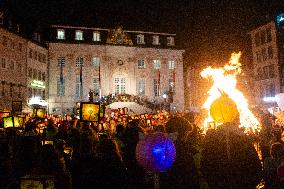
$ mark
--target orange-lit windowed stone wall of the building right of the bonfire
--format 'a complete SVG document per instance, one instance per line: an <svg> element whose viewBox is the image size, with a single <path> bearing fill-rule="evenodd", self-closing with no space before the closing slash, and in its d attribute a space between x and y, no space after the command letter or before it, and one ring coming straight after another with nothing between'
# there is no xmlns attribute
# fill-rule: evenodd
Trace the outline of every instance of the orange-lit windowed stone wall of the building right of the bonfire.
<svg viewBox="0 0 284 189"><path fill-rule="evenodd" d="M271 39L268 37L269 32ZM251 31L251 39L255 101L257 104L266 106L268 104L263 99L265 97L274 97L275 94L281 91L275 23L271 21ZM260 42L258 42L259 40ZM272 56L269 55L271 54L269 51L272 52Z"/></svg>

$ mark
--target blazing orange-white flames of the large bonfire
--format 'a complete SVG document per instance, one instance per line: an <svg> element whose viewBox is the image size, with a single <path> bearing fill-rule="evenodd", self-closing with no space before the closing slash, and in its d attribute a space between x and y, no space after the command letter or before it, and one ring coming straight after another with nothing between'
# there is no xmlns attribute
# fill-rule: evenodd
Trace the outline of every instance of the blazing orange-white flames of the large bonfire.
<svg viewBox="0 0 284 189"><path fill-rule="evenodd" d="M210 116L211 104L221 96L221 92L226 93L237 105L240 114L240 127L245 128L245 132L256 132L260 130L260 124L253 113L248 108L248 101L241 91L236 88L236 76L241 73L241 63L239 62L241 52L232 53L228 64L221 68L207 67L201 72L203 78L213 80L213 86L208 91L208 98L203 107L208 111L208 117L204 123L204 130L208 129L208 123L213 122Z"/></svg>

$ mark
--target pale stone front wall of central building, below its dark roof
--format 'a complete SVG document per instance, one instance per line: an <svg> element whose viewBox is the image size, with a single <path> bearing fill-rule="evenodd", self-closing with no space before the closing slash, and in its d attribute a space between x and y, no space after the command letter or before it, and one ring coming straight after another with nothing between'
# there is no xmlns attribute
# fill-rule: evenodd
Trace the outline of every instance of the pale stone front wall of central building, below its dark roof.
<svg viewBox="0 0 284 189"><path fill-rule="evenodd" d="M92 57L100 58L101 67L101 90L102 96L114 94L114 78L126 78L127 94L137 95L136 79L146 79L145 96L150 100L162 101L161 95L168 91L168 79L171 77L171 70L168 68L168 60L176 62L175 69L175 95L173 106L178 110L184 109L184 83L183 83L183 50L141 48L135 46L116 45L90 45L90 44L49 44L49 111L69 112L73 110L75 102L88 101L88 92L94 88L93 78L98 77L99 70L92 65ZM80 68L76 67L76 58L84 58L82 68L83 95L77 98L76 76L80 75ZM57 95L57 81L61 68L58 66L58 58L65 57L65 66L62 73L65 80L65 95ZM138 69L137 62L144 59L145 68ZM160 69L160 96L154 97L153 79L158 79L158 71L153 68L153 60L161 61ZM119 65L119 62L123 62ZM68 109L68 110L67 110Z"/></svg>

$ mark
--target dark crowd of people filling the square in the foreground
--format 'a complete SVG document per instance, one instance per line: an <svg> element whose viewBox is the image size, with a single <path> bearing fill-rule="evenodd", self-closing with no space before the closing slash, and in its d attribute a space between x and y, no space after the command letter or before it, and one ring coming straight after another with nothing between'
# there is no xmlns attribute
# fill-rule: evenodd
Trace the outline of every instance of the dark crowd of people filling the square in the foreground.
<svg viewBox="0 0 284 189"><path fill-rule="evenodd" d="M194 113L110 116L101 123L30 119L23 128L0 129L0 188L45 176L56 189L284 188L282 127L269 116L260 121L261 132L248 135L238 119L203 134ZM176 148L173 165L158 174L136 160L141 136L153 132L165 133Z"/></svg>

